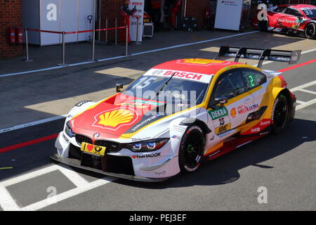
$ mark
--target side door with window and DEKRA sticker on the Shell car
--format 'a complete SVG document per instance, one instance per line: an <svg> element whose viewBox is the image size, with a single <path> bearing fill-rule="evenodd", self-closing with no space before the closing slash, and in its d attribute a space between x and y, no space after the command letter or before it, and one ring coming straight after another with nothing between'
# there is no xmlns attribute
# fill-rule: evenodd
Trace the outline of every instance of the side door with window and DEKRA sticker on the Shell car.
<svg viewBox="0 0 316 225"><path fill-rule="evenodd" d="M254 96L249 93L242 68L224 72L216 80L209 101L209 123L212 123L217 136L225 136L225 132L235 129L246 122L249 113L254 112ZM226 97L224 107L216 103L215 98ZM228 133L227 133L228 134Z"/></svg>

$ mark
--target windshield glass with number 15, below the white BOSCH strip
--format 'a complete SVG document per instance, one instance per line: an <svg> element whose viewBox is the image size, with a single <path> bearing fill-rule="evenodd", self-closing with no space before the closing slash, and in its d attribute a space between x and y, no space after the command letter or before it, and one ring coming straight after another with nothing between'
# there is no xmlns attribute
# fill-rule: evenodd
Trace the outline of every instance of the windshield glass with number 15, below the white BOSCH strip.
<svg viewBox="0 0 316 225"><path fill-rule="evenodd" d="M141 76L123 91L123 94L192 106L202 103L208 86L209 83L179 79L176 76Z"/></svg>

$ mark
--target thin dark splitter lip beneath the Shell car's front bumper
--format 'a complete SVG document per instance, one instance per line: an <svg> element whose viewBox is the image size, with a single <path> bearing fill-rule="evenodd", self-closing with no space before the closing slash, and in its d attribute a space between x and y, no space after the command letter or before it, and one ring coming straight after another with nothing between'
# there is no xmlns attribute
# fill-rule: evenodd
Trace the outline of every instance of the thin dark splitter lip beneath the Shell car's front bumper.
<svg viewBox="0 0 316 225"><path fill-rule="evenodd" d="M94 169L94 168L91 168L91 167L82 166L80 160L76 160L76 159L73 159L73 158L62 158L62 157L60 157L60 155L58 155L58 153L56 153L54 155L51 155L51 159L55 160L57 162L62 162L63 164L66 164L66 165L70 165L72 167L86 169L88 171L96 172L98 174L104 174L104 175L107 175L107 176L114 176L114 177L117 177L117 178L128 179L128 180L132 180L132 181L161 182L161 181L165 181L166 179L169 179L169 177L164 177L164 178L147 178L147 177L126 175L126 174L116 174L116 173L112 173L112 172L104 172L104 171L102 171L100 169Z"/></svg>

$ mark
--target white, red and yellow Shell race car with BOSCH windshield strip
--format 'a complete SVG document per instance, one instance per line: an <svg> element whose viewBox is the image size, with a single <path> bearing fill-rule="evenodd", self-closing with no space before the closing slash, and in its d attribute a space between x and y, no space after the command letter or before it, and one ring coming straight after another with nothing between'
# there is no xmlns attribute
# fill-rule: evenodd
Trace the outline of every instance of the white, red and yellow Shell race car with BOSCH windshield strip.
<svg viewBox="0 0 316 225"><path fill-rule="evenodd" d="M216 59L154 66L126 89L67 114L53 160L124 179L163 181L195 172L294 118L296 97L263 60L296 63L301 51L221 46ZM234 61L222 60L235 57ZM239 58L259 60L258 67Z"/></svg>

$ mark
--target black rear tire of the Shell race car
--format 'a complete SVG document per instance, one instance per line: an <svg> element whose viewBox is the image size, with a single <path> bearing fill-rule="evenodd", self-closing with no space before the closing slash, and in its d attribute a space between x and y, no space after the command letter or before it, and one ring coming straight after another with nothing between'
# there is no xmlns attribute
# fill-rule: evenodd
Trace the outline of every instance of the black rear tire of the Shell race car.
<svg viewBox="0 0 316 225"><path fill-rule="evenodd" d="M272 108L272 133L281 132L287 121L289 119L289 105L287 101L287 97L283 94L279 94L277 98L275 98L275 103Z"/></svg>

